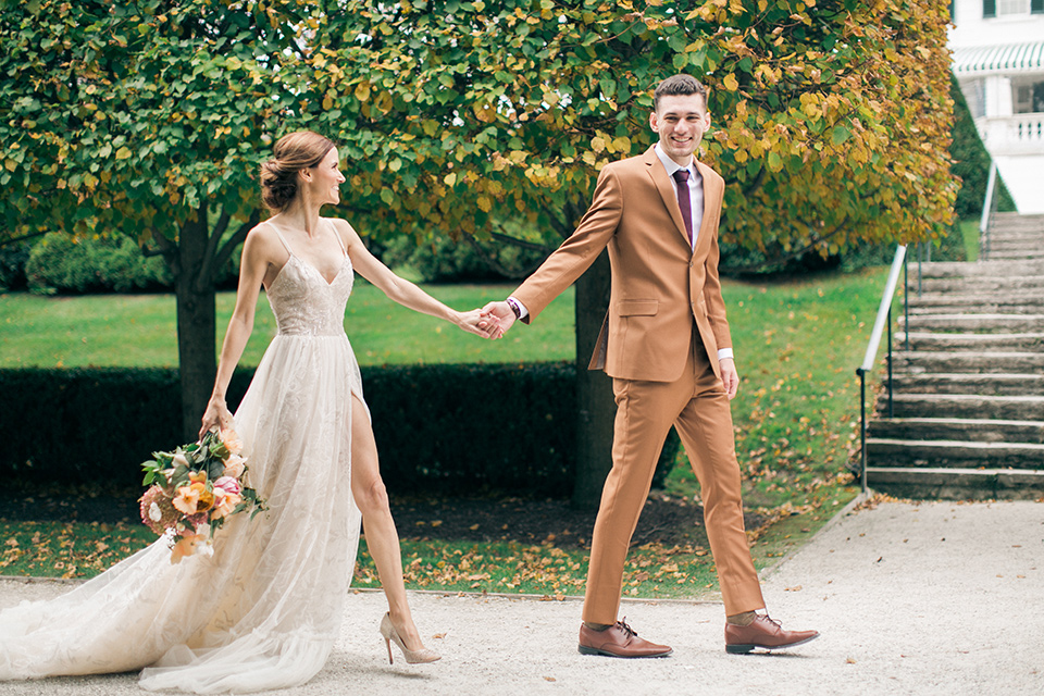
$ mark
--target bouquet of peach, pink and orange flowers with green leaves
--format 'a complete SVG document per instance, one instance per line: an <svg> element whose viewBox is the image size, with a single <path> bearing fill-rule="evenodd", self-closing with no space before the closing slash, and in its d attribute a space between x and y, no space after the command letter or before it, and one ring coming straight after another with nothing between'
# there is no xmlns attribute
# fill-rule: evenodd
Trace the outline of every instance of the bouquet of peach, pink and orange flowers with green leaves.
<svg viewBox="0 0 1044 696"><path fill-rule="evenodd" d="M141 521L171 545L171 562L178 563L197 548L212 552L214 533L239 512L265 509L258 492L244 480L247 460L243 443L228 428L211 431L198 443L173 452L152 452L141 464L144 485Z"/></svg>

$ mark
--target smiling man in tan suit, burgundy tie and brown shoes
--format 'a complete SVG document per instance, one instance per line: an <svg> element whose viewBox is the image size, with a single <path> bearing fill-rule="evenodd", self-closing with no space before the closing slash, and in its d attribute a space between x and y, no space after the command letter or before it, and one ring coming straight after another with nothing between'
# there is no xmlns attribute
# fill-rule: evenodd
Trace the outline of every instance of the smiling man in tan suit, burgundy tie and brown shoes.
<svg viewBox="0 0 1044 696"><path fill-rule="evenodd" d="M785 648L816 631L785 631L765 601L743 525L739 465L729 400L739 376L718 281L724 182L694 159L710 127L707 91L675 75L655 91L649 126L659 142L605 166L573 235L506 301L484 308L502 331L531 322L609 248L612 291L589 369L612 377L612 470L591 542L580 651L663 657L617 620L631 535L674 425L699 478L704 520L725 605L725 649Z"/></svg>

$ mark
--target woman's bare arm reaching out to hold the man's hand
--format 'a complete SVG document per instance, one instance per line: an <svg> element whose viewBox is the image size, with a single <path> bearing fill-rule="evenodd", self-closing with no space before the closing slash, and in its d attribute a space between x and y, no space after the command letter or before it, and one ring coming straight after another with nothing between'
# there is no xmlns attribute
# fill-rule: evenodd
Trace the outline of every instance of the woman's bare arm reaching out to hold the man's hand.
<svg viewBox="0 0 1044 696"><path fill-rule="evenodd" d="M400 278L388 266L381 263L376 257L370 253L358 233L347 222L336 220L335 224L338 234L345 241L345 247L348 249L348 256L351 257L352 268L359 275L373 283L382 293L387 295L388 299L413 311L445 319L476 336L483 338L499 337L499 324L488 321L488 318L483 318L478 310L458 312L450 307L446 307L413 283Z"/></svg>

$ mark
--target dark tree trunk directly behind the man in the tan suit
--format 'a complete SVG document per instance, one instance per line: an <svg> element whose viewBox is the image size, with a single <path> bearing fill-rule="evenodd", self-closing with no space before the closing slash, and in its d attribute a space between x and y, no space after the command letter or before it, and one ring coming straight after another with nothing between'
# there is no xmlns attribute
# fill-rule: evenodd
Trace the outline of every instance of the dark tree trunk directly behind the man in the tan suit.
<svg viewBox="0 0 1044 696"><path fill-rule="evenodd" d="M601 488L612 468L612 422L617 407L612 380L588 370L601 323L609 309L609 254L602 251L576 281L576 478L573 508L591 510L601 500Z"/></svg>

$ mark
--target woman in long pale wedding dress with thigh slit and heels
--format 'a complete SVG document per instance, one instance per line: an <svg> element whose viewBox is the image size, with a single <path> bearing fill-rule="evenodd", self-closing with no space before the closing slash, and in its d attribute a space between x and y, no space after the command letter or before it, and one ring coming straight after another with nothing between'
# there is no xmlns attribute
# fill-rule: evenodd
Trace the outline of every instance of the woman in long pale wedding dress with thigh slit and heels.
<svg viewBox="0 0 1044 696"><path fill-rule="evenodd" d="M269 510L229 518L211 555L172 564L159 540L66 595L0 613L0 679L141 669L139 684L150 691L302 684L338 636L360 518L388 599L378 624L388 659L393 642L407 662L439 659L407 604L370 412L344 331L353 271L396 302L471 333L495 337L499 326L480 328L477 310L438 302L374 258L347 222L319 215L340 200L345 182L332 141L293 133L274 156L262 165L261 186L275 214L244 243L236 308L200 428L235 427L248 484ZM278 334L233 415L225 389L262 285Z"/></svg>

